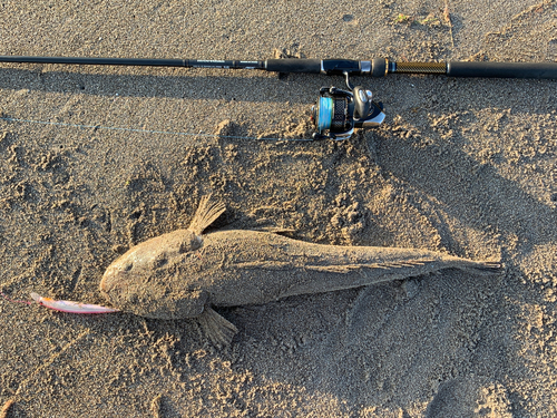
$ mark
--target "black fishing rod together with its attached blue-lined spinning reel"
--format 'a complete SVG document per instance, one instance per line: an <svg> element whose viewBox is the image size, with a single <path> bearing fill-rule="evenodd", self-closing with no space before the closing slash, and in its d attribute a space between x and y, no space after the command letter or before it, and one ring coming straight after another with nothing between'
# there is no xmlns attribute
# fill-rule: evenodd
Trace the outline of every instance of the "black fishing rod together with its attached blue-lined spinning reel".
<svg viewBox="0 0 557 418"><path fill-rule="evenodd" d="M254 69L273 72L344 76L348 89L323 87L312 107L314 139L346 139L355 128L380 126L385 114L370 90L353 86L351 76L384 77L389 74L436 74L449 77L557 79L557 62L395 62L384 58L353 59L280 58L254 61L149 58L23 57L0 56L0 62L67 64L96 66L147 66L184 68Z"/></svg>

